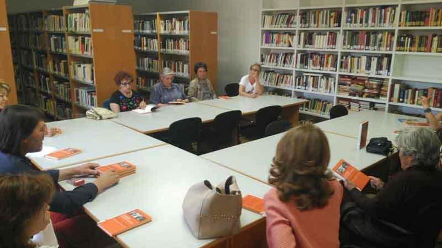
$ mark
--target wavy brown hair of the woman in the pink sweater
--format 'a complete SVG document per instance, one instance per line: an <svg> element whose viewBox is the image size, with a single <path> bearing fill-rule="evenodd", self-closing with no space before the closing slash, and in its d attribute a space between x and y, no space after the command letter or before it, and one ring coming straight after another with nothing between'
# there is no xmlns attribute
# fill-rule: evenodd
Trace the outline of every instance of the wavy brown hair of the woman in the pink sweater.
<svg viewBox="0 0 442 248"><path fill-rule="evenodd" d="M279 199L295 198L300 210L321 208L333 195L327 166L330 149L325 134L313 125L288 131L279 141L270 169L269 182L278 189Z"/></svg>

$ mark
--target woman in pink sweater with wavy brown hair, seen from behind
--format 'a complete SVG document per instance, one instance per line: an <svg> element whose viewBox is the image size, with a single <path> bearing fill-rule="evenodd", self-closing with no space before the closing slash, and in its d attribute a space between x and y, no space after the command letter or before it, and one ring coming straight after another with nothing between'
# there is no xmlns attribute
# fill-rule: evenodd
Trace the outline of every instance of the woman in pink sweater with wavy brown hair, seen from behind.
<svg viewBox="0 0 442 248"><path fill-rule="evenodd" d="M339 247L343 187L329 171L330 149L313 125L288 131L276 147L264 196L272 247Z"/></svg>

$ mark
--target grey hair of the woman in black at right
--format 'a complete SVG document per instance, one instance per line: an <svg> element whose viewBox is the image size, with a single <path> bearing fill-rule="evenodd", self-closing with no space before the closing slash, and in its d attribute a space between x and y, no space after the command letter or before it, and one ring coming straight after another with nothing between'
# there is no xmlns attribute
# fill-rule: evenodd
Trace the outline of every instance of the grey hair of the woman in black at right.
<svg viewBox="0 0 442 248"><path fill-rule="evenodd" d="M414 164L435 167L439 161L440 140L429 128L410 127L403 129L396 139L404 155L412 155Z"/></svg>

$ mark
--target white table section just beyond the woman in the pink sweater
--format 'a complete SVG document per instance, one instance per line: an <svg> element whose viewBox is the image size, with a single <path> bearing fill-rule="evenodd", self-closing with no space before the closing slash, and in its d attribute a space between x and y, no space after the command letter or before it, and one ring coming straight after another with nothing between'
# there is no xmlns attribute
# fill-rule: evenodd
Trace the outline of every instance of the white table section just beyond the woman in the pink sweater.
<svg viewBox="0 0 442 248"><path fill-rule="evenodd" d="M268 183L270 164L275 156L276 145L285 133L276 134L241 145L201 155L219 165ZM345 159L358 169L375 164L385 156L367 153L365 149L356 150L357 140L332 133L325 133L330 147L329 168L340 159Z"/></svg>

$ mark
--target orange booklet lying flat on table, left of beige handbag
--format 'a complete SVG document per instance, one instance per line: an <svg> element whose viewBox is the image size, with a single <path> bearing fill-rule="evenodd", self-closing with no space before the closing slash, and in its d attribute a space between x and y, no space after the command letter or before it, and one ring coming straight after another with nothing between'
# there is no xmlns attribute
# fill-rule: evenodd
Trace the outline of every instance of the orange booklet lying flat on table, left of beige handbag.
<svg viewBox="0 0 442 248"><path fill-rule="evenodd" d="M135 209L112 219L100 221L97 225L101 230L107 233L107 235L113 237L151 220L151 216L147 215L140 209Z"/></svg>

